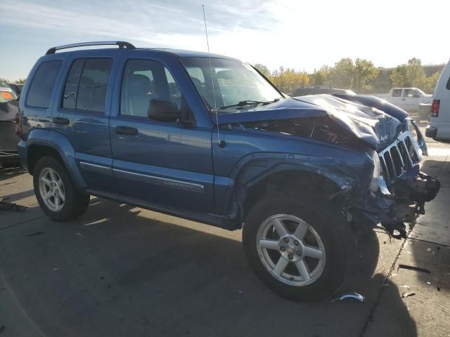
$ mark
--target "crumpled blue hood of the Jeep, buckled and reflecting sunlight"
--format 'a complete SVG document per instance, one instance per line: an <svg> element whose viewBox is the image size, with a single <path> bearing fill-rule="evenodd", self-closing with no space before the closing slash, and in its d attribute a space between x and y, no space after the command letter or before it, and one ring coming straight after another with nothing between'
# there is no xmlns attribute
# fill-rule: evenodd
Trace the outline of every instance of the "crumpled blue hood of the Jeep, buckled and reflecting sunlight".
<svg viewBox="0 0 450 337"><path fill-rule="evenodd" d="M285 98L249 110L219 114L217 119L219 124L234 124L327 115L340 127L374 149L389 145L403 130L403 125L398 119L372 107L342 100L333 95Z"/></svg>

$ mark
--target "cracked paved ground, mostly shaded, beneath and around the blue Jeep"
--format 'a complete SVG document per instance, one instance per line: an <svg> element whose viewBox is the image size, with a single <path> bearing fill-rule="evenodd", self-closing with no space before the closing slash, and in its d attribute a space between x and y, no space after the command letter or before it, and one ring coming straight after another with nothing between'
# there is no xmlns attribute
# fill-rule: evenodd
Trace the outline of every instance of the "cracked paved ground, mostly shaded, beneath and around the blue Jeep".
<svg viewBox="0 0 450 337"><path fill-rule="evenodd" d="M450 145L427 141L423 171L442 189L408 239L359 239L342 291L364 303L279 298L250 270L240 231L99 198L53 223L31 176L4 170L0 197L27 209L0 211L0 336L450 336Z"/></svg>

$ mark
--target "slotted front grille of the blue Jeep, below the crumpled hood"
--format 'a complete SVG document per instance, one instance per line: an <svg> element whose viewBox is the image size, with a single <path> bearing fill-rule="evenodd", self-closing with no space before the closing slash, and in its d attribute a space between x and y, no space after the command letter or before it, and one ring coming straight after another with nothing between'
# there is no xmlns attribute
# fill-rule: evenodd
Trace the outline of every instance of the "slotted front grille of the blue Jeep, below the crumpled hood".
<svg viewBox="0 0 450 337"><path fill-rule="evenodd" d="M401 133L394 143L378 152L385 179L392 181L418 165L421 160L418 149L413 135L406 131Z"/></svg>

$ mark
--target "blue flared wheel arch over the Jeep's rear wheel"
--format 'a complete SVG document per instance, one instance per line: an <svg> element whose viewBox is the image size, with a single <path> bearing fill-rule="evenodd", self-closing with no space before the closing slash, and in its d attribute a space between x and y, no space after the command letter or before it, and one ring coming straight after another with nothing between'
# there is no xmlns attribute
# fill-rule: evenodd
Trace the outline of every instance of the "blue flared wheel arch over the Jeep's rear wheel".
<svg viewBox="0 0 450 337"><path fill-rule="evenodd" d="M42 130L39 128L32 129L27 140L21 140L18 144L18 152L25 166L28 166L27 160L30 157L30 150L32 151L34 146L44 146L56 150L64 163L65 169L68 170L75 187L78 190L84 190L86 188L86 182L79 173L77 162L75 161L75 149L70 144L68 138L56 131Z"/></svg>

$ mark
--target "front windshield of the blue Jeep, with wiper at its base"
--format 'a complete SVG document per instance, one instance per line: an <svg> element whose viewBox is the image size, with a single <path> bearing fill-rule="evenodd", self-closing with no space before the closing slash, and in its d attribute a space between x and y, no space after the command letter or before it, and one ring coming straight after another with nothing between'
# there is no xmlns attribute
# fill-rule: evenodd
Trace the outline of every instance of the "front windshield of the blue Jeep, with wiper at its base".
<svg viewBox="0 0 450 337"><path fill-rule="evenodd" d="M252 66L223 58L182 58L203 100L214 108L214 91L219 112L246 109L283 98ZM212 81L211 81L212 68Z"/></svg>

